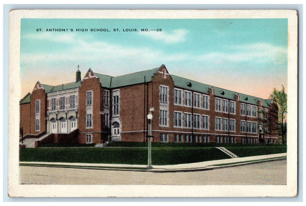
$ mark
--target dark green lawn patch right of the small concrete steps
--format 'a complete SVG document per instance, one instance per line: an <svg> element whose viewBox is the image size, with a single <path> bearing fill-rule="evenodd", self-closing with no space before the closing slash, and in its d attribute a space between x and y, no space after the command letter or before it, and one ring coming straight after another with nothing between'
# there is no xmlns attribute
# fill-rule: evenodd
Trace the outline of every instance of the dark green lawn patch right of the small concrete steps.
<svg viewBox="0 0 306 206"><path fill-rule="evenodd" d="M253 147L250 147L250 146L241 146L241 147L225 146L225 148L230 150L232 153L234 153L235 155L237 155L239 157L278 154L278 153L286 153L287 152L287 146L286 145L256 145L256 146L253 146Z"/></svg>

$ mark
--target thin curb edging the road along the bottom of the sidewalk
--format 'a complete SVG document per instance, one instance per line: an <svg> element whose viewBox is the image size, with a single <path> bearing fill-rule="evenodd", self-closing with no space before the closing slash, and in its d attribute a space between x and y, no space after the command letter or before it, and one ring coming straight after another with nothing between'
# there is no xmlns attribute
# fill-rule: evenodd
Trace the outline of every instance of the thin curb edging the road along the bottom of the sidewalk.
<svg viewBox="0 0 306 206"><path fill-rule="evenodd" d="M166 172L191 172L191 171L205 171L205 170L213 170L213 169L221 169L221 168L227 168L227 167L237 167L237 166L243 166L248 164L257 164L262 162L271 162L271 161L279 161L279 160L285 160L287 157L279 157L274 159L267 159L267 160L254 160L251 162L246 163L233 163L229 165L222 165L222 166L206 166L206 167L197 167L197 168L183 168L183 169L157 169L153 168L150 170L147 169L124 169L124 168L103 168L103 167L88 167L88 166L59 166L59 165L52 165L52 164L19 164L19 166L28 166L28 167L60 167L60 168L74 168L74 169L92 169L92 170L111 170L111 171L138 171L138 172L156 172L156 173L166 173Z"/></svg>

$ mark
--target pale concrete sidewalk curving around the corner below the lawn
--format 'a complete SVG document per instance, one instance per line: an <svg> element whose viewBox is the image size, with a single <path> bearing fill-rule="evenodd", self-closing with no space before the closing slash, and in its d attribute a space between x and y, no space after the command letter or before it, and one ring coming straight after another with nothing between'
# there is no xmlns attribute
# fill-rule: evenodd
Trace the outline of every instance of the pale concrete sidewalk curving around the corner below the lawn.
<svg viewBox="0 0 306 206"><path fill-rule="evenodd" d="M234 167L258 162L275 161L286 159L287 153L270 154L261 156L238 157L224 160L213 160L176 165L153 165L153 169L147 170L147 165L134 164L90 164L90 163L62 163L62 162L19 162L20 166L41 166L41 167L68 167L100 170L121 170L121 171L146 171L146 172L179 172L212 170L224 167Z"/></svg>

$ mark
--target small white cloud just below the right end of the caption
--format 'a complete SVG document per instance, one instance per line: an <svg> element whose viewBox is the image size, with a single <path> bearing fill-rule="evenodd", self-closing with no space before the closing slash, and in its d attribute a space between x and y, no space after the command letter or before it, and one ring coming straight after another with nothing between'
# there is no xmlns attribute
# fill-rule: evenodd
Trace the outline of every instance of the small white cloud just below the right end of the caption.
<svg viewBox="0 0 306 206"><path fill-rule="evenodd" d="M178 43L186 40L187 31L185 29L176 29L169 33L165 31L142 31L139 34L165 43Z"/></svg>

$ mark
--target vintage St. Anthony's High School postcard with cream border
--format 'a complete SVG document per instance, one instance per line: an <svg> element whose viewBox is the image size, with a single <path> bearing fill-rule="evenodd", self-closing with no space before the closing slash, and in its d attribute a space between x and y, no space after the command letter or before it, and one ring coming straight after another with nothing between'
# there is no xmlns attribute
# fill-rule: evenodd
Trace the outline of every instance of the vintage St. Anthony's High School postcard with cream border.
<svg viewBox="0 0 306 206"><path fill-rule="evenodd" d="M297 195L297 11L12 10L10 197Z"/></svg>

